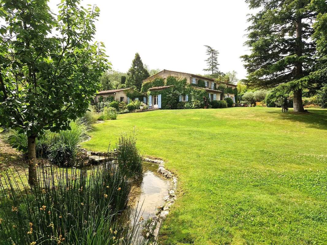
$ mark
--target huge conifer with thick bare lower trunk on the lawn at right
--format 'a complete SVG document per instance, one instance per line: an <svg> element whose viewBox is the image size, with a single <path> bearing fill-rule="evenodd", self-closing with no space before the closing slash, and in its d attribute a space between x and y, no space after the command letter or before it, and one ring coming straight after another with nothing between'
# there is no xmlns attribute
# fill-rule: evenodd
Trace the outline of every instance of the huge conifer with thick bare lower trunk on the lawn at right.
<svg viewBox="0 0 327 245"><path fill-rule="evenodd" d="M294 111L304 112L302 90L315 90L311 79L317 59L312 40L312 23L317 13L310 0L246 0L250 9L261 9L251 15L250 55L242 56L248 71L247 85L293 91Z"/></svg>

